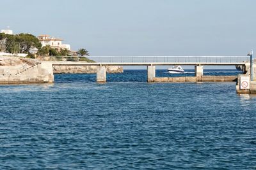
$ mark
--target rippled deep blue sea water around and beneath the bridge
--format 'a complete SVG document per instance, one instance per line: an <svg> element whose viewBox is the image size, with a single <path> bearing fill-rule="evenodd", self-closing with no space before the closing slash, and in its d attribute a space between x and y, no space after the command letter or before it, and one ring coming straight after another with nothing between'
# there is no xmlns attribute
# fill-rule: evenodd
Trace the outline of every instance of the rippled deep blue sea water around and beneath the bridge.
<svg viewBox="0 0 256 170"><path fill-rule="evenodd" d="M147 83L145 70L95 78L1 85L0 169L256 169L256 97L237 95L235 82Z"/></svg>

